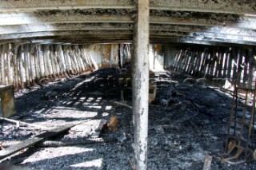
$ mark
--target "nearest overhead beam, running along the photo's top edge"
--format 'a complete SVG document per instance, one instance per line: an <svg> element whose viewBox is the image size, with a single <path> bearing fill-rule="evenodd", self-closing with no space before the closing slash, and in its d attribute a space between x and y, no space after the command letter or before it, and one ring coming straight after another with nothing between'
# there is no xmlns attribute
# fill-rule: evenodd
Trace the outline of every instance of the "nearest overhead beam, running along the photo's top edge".
<svg viewBox="0 0 256 170"><path fill-rule="evenodd" d="M56 7L53 7L56 6ZM134 8L134 1L126 0L8 0L1 2L1 11L66 10L87 8ZM197 11L222 14L256 14L254 0L150 0L150 10Z"/></svg>

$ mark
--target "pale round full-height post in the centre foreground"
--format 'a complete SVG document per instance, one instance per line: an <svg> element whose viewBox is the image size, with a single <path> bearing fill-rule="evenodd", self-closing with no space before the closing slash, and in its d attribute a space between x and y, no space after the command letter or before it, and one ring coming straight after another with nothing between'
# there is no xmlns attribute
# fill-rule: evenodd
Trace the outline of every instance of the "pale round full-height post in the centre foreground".
<svg viewBox="0 0 256 170"><path fill-rule="evenodd" d="M133 118L134 153L137 170L147 167L150 1L138 0L134 30Z"/></svg>

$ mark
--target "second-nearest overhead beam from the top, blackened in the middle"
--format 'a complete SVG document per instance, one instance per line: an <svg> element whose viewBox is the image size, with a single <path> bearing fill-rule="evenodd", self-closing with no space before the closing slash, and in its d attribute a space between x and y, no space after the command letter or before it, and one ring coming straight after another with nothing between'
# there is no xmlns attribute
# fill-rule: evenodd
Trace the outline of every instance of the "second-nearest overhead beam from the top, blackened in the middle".
<svg viewBox="0 0 256 170"><path fill-rule="evenodd" d="M133 23L135 10L36 10L33 12L0 13L0 26L60 23ZM233 26L256 30L256 15L204 14L194 12L150 11L151 24Z"/></svg>

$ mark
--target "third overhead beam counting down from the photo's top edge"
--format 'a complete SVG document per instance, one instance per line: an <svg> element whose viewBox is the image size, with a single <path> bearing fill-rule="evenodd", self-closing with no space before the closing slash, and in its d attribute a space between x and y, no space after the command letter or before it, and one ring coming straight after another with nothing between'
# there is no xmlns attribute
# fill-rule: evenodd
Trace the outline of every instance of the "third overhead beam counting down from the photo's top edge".
<svg viewBox="0 0 256 170"><path fill-rule="evenodd" d="M26 26L0 26L0 36L6 34L29 34L50 31L70 31L70 30L133 30L134 23L66 23L66 24L31 24ZM151 31L172 31L181 33L202 33L202 34L224 34L226 36L256 37L255 30L238 29L230 26L187 26L171 24L150 24ZM221 37L223 37L221 35Z"/></svg>

